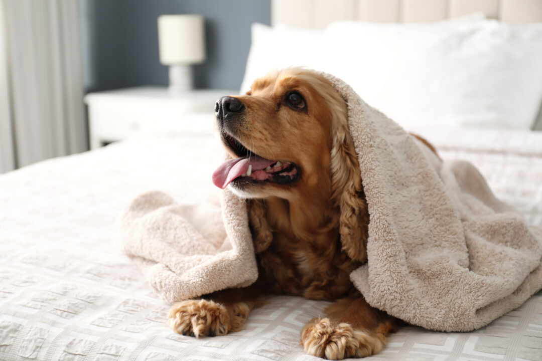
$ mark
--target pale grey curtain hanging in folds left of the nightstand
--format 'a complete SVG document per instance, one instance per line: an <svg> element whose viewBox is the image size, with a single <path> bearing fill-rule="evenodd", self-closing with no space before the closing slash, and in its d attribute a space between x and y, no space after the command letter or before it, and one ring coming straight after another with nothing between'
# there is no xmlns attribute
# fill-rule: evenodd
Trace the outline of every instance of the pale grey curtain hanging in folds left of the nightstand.
<svg viewBox="0 0 542 361"><path fill-rule="evenodd" d="M86 150L77 2L0 1L0 170Z"/></svg>

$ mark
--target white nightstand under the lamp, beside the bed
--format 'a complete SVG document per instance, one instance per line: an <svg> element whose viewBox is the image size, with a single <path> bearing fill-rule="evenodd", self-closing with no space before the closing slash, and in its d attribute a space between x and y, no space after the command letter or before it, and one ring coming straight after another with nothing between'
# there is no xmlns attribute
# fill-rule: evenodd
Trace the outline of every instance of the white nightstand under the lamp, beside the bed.
<svg viewBox="0 0 542 361"><path fill-rule="evenodd" d="M170 93L163 87L101 91L85 96L91 149L137 132L212 133L215 102L238 90Z"/></svg>

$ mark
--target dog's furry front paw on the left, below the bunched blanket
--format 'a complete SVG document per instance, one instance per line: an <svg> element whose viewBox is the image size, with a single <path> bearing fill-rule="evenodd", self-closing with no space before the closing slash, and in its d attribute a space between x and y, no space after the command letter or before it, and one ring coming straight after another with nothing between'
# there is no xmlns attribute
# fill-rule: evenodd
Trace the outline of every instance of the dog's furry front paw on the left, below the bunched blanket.
<svg viewBox="0 0 542 361"><path fill-rule="evenodd" d="M167 324L177 333L195 337L221 336L230 330L225 306L207 300L187 300L173 305Z"/></svg>

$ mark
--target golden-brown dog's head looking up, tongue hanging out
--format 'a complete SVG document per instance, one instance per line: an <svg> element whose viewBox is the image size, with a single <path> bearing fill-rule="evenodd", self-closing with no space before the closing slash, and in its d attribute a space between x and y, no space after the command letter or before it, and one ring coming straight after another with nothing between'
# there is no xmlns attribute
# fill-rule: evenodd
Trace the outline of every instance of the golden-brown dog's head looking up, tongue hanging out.
<svg viewBox="0 0 542 361"><path fill-rule="evenodd" d="M246 95L218 99L215 111L232 159L216 170L214 182L243 198L293 199L306 189L331 188L335 174L345 178L345 168L357 165L346 103L313 71L269 74Z"/></svg>

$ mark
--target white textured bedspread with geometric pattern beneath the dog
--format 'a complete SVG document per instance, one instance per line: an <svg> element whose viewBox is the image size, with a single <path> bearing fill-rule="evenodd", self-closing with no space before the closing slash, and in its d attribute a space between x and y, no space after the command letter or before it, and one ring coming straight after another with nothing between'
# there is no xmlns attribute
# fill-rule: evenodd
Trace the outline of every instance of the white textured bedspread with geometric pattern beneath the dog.
<svg viewBox="0 0 542 361"><path fill-rule="evenodd" d="M479 167L500 198L542 224L542 133L418 129L444 158ZM218 199L220 143L135 137L0 176L0 360L308 360L304 323L325 302L274 297L245 330L194 339L165 325L168 305L111 242L135 195ZM470 333L404 327L374 359L542 360L542 292ZM372 358L371 358L372 359Z"/></svg>

